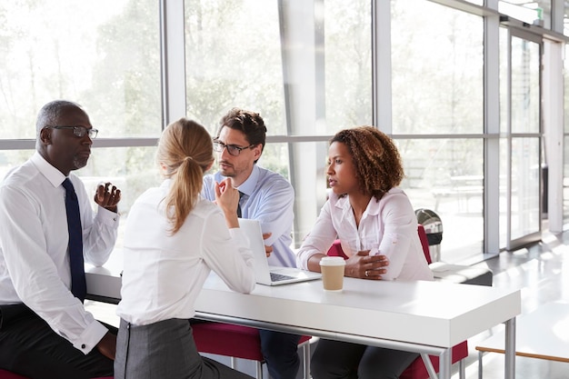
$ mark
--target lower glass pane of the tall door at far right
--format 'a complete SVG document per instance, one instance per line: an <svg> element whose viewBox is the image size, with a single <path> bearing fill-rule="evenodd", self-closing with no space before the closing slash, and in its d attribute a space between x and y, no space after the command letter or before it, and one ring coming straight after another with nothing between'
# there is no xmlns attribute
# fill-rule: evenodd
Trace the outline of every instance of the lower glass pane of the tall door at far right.
<svg viewBox="0 0 569 379"><path fill-rule="evenodd" d="M513 138L512 240L539 232L539 172L539 138Z"/></svg>

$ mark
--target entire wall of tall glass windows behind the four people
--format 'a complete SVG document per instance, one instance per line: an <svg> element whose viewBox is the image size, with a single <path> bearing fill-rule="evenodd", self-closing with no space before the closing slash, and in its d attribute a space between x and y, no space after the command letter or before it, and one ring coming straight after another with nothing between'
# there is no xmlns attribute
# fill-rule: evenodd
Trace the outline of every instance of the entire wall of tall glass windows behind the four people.
<svg viewBox="0 0 569 379"><path fill-rule="evenodd" d="M484 253L495 254L505 229L515 226L500 210L524 187L505 174L525 173L535 217L534 174L542 150L535 127L544 119L535 108L543 101L539 64L524 67L530 52L524 42L500 45L500 25L522 25L514 9L533 24L524 25L524 32L541 37L553 31L563 39L567 17L554 12L566 8L560 2L5 1L0 175L33 153L39 108L57 98L74 100L100 131L89 165L77 174L88 187L106 180L119 185L127 218L134 199L159 181L155 145L166 119L186 115L214 135L221 116L242 107L260 113L268 128L259 165L294 186L297 247L325 201L328 139L340 129L378 120L382 125L375 126L393 135L400 148L403 187L414 208L442 218L442 258L464 262L480 256L489 239L494 242ZM518 71L504 65L512 53ZM532 65L539 62L533 59ZM528 83L525 68L533 73ZM522 88L515 85L531 91L504 92L504 78L512 79L513 91ZM511 108L505 95L513 96ZM519 138L513 143L500 129L508 117L517 117L512 132ZM564 167L569 172L569 164ZM559 179L563 173L549 175ZM514 201L508 205L514 217L527 218L525 204ZM564 214L569 219L569 206ZM524 234L524 224L517 225Z"/></svg>

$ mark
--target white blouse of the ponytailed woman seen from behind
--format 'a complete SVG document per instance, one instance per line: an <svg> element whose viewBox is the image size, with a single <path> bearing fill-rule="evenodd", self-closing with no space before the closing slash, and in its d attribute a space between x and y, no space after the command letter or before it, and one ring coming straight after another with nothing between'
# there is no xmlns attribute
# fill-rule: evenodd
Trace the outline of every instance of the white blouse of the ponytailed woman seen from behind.
<svg viewBox="0 0 569 379"><path fill-rule="evenodd" d="M174 235L165 217L167 179L136 199L125 230L122 300L116 314L135 325L195 315L195 299L211 270L234 291L255 288L253 252L240 228L200 196Z"/></svg>

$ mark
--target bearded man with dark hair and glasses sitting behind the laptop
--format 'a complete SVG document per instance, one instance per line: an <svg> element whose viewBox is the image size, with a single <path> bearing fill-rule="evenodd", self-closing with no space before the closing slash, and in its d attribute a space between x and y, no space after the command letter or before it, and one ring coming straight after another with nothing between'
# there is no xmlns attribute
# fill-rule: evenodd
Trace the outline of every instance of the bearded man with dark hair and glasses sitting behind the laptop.
<svg viewBox="0 0 569 379"><path fill-rule="evenodd" d="M282 175L256 165L265 148L263 118L239 108L230 110L220 122L214 139L219 171L205 175L202 194L215 200L215 183L231 179L241 194L237 214L261 222L269 264L295 266L291 230L294 218L294 190ZM300 359L300 335L259 330L269 374L274 379L294 379Z"/></svg>

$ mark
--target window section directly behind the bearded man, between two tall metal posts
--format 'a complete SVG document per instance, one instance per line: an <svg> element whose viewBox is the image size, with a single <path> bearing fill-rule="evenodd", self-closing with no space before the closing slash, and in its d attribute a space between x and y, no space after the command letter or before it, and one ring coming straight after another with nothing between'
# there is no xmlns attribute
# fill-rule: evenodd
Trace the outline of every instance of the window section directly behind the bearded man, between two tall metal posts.
<svg viewBox="0 0 569 379"><path fill-rule="evenodd" d="M185 1L187 113L212 134L234 106L263 116L258 164L294 185L296 246L325 200L317 141L372 122L370 17L364 0Z"/></svg>

